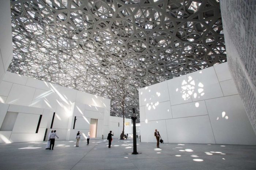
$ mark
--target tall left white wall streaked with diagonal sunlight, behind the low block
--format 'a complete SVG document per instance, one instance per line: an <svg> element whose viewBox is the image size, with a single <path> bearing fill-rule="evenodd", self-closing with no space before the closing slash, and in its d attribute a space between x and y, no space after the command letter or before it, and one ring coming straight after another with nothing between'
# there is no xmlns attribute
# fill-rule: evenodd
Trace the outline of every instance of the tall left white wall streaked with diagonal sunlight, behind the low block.
<svg viewBox="0 0 256 170"><path fill-rule="evenodd" d="M11 72L6 72L0 83L0 103L19 106L20 109L22 106L49 109L45 117L48 133L55 112L52 129L57 130L59 140L75 139L78 130L87 134L91 118L98 119L98 139L105 134L105 129L109 129L110 99ZM73 129L75 116L77 120ZM82 139L86 139L84 134Z"/></svg>

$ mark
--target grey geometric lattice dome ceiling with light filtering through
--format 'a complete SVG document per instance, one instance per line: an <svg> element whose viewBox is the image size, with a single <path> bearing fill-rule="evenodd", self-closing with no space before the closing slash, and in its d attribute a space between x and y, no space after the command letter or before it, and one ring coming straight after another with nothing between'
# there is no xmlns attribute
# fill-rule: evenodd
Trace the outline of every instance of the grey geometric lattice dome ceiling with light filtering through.
<svg viewBox="0 0 256 170"><path fill-rule="evenodd" d="M14 58L8 71L111 99L226 62L218 0L11 1ZM125 81L123 81L125 79Z"/></svg>

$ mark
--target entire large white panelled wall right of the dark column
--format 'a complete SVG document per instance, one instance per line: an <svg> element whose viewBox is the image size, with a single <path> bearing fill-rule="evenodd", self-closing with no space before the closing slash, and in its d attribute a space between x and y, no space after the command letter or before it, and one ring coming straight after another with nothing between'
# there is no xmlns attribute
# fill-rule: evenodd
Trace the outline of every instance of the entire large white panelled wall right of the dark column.
<svg viewBox="0 0 256 170"><path fill-rule="evenodd" d="M142 142L256 145L227 63L139 89Z"/></svg>

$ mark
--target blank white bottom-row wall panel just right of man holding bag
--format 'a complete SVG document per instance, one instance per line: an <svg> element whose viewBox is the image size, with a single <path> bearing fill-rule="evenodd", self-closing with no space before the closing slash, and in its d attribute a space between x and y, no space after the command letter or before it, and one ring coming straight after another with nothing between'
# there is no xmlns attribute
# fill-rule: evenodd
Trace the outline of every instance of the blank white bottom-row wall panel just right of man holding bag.
<svg viewBox="0 0 256 170"><path fill-rule="evenodd" d="M166 120L169 143L215 143L208 115Z"/></svg>

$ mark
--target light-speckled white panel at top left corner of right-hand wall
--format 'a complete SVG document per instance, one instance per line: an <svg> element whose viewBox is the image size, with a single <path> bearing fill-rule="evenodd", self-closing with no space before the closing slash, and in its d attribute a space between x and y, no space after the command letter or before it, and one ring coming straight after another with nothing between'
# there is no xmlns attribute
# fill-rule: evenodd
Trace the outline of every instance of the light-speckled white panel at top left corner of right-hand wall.
<svg viewBox="0 0 256 170"><path fill-rule="evenodd" d="M141 89L142 106L170 100L167 82L161 82Z"/></svg>

